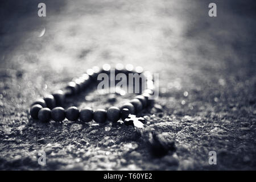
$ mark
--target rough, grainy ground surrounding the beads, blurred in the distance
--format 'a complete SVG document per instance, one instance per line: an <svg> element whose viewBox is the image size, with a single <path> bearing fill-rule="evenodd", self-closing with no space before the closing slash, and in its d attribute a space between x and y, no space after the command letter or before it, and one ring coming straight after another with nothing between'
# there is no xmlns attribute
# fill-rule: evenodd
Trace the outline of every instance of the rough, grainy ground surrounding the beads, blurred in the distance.
<svg viewBox="0 0 256 182"><path fill-rule="evenodd" d="M46 1L45 18L38 3L0 6L0 169L256 169L253 1L216 1L216 18L210 1ZM29 117L36 98L104 63L159 73L159 98L139 114L144 130ZM106 108L131 97L91 88L66 106ZM153 155L152 130L175 147Z"/></svg>

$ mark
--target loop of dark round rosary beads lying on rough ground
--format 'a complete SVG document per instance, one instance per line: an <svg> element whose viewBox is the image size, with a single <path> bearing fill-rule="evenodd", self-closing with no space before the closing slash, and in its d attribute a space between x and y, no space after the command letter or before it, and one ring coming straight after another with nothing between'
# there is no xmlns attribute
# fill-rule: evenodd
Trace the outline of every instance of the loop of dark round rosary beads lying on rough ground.
<svg viewBox="0 0 256 182"><path fill-rule="evenodd" d="M79 94L82 90L88 88L90 84L98 81L98 74L106 73L109 75L110 70L111 67L109 64L103 65L102 69L93 67L92 69L88 69L81 77L74 78L68 83L64 90L57 90L44 98L39 98L31 105L31 117L33 119L39 119L42 122L48 122L51 119L53 121L61 122L65 118L70 121L80 119L82 122L90 122L92 120L98 123L104 123L106 120L117 122L120 118L124 121L129 114L137 114L147 106L152 105L154 100L151 100L150 97L154 93L154 80L152 80L150 72L143 72L141 67L136 67L134 71L134 67L131 64L127 64L126 66L117 64L114 69L116 74L143 74L142 76L146 78L146 89L142 90L142 94L136 96L130 102L126 102L121 107L112 106L109 107L108 110L97 109L96 111L93 111L90 107L85 107L84 109L79 110L75 106L68 107L68 109L65 110L61 107L64 105L65 97ZM140 84L142 83L140 82Z"/></svg>

